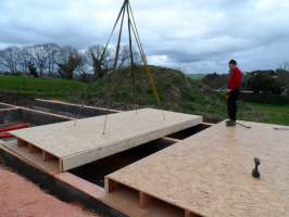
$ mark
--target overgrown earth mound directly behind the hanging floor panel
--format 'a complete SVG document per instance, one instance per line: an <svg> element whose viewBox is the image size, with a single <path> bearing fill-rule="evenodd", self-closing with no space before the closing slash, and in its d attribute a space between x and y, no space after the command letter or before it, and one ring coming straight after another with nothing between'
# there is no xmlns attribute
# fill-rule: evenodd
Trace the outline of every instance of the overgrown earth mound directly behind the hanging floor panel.
<svg viewBox="0 0 289 217"><path fill-rule="evenodd" d="M203 88L178 71L156 66L151 68L162 100L162 108L204 115L210 122L217 122L225 115L225 104L221 95ZM136 71L136 87L137 104L156 106L147 74L141 68ZM128 69L117 71L112 75L111 81L100 79L90 85L88 101L102 104L105 88L110 89L113 107L134 107L133 81Z"/></svg>

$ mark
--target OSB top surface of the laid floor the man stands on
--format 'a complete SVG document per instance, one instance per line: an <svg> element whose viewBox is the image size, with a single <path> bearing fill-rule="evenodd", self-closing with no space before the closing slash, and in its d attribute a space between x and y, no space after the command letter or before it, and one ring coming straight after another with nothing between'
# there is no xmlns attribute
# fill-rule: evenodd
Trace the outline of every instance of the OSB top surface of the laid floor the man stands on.
<svg viewBox="0 0 289 217"><path fill-rule="evenodd" d="M106 178L202 216L289 216L289 132L244 124L221 123Z"/></svg>

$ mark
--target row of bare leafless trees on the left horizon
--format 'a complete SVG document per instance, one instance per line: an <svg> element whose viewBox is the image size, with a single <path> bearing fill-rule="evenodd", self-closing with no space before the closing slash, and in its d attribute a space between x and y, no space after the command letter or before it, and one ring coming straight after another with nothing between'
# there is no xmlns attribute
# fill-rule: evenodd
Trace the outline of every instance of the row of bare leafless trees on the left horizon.
<svg viewBox="0 0 289 217"><path fill-rule="evenodd" d="M91 46L78 50L72 46L43 43L26 47L9 47L0 50L0 73L30 75L34 77L61 77L83 80L103 77L114 65L115 50L103 46ZM140 63L139 54L134 51L134 61ZM129 48L122 47L117 68L130 63Z"/></svg>

